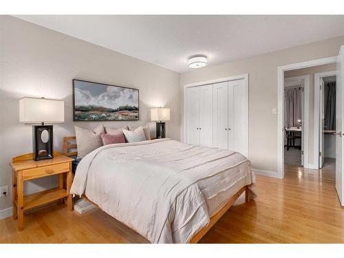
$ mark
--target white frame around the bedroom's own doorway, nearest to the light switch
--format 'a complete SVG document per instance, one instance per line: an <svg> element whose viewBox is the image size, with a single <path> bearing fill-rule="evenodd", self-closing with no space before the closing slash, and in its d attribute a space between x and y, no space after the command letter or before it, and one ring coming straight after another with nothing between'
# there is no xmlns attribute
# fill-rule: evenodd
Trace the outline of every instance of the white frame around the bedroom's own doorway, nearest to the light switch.
<svg viewBox="0 0 344 258"><path fill-rule="evenodd" d="M281 65L277 67L277 178L284 178L284 72L317 65L336 63L336 58L337 56L329 56L311 61L291 63L289 65Z"/></svg>

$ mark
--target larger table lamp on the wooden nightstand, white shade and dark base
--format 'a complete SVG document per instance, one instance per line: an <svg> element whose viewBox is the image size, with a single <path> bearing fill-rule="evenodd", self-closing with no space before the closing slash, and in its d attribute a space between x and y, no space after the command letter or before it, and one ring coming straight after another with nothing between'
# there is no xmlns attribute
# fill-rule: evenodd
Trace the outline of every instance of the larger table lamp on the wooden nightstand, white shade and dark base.
<svg viewBox="0 0 344 258"><path fill-rule="evenodd" d="M19 122L32 125L32 148L34 160L54 158L52 125L45 122L64 122L65 103L63 100L24 97L19 100Z"/></svg>

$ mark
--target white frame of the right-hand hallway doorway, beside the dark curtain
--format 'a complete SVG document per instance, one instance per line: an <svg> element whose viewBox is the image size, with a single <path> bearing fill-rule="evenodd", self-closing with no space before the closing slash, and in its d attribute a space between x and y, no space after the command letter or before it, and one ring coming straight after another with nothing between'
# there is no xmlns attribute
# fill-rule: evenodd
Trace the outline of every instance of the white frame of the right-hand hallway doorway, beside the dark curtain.
<svg viewBox="0 0 344 258"><path fill-rule="evenodd" d="M320 79L329 76L337 76L336 71L319 72L314 74L314 169L319 169L319 147L320 147Z"/></svg>

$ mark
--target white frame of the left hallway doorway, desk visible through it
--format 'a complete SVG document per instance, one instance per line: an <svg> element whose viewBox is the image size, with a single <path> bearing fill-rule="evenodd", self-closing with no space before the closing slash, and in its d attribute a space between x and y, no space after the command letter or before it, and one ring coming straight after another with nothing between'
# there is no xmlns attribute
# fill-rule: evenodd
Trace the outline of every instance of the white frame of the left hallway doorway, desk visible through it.
<svg viewBox="0 0 344 258"><path fill-rule="evenodd" d="M301 150L303 151L302 157L303 157L303 167L305 169L312 169L310 164L308 164L308 134L309 134L309 126L308 126L308 120L309 120L309 111L310 111L310 76L309 75L303 75L303 76L294 76L294 77L288 77L284 78L284 87L286 86L286 82L289 82L293 86L297 86L297 84L301 85L303 87L302 92L302 131L301 131ZM284 105L283 105L283 122L284 122ZM285 150L283 150L285 151Z"/></svg>

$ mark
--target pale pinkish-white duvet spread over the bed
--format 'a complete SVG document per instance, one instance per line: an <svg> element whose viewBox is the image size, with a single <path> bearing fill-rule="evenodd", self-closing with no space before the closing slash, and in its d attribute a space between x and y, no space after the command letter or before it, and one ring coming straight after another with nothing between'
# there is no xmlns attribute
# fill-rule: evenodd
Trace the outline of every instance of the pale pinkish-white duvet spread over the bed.
<svg viewBox="0 0 344 258"><path fill-rule="evenodd" d="M92 151L78 164L71 193L85 193L153 243L187 243L254 182L244 155L159 139Z"/></svg>

